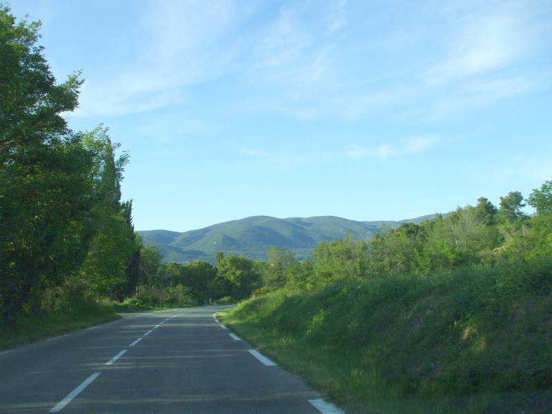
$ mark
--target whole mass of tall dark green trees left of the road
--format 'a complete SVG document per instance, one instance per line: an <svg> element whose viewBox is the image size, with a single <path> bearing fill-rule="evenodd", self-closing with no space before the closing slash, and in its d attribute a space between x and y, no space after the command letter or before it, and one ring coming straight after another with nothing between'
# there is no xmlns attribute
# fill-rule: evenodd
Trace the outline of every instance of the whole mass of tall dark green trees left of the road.
<svg viewBox="0 0 552 414"><path fill-rule="evenodd" d="M141 244L120 203L127 156L115 159L106 129L67 128L82 81L56 83L39 27L0 6L0 324L12 327L59 304L122 299Z"/></svg>

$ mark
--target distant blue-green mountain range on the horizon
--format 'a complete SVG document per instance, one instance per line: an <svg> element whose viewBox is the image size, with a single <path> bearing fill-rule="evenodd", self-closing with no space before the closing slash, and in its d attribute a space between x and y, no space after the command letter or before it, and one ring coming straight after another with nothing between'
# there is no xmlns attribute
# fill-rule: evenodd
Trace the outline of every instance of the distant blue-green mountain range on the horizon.
<svg viewBox="0 0 552 414"><path fill-rule="evenodd" d="M144 244L156 246L166 262L215 263L215 253L245 255L250 259L266 259L265 250L277 246L293 250L297 259L308 259L320 242L342 239L348 231L355 239L370 239L384 226L395 228L401 223L421 223L435 215L400 221L354 221L341 217L292 217L277 219L268 216L246 217L184 233L169 230L143 230L138 233Z"/></svg>

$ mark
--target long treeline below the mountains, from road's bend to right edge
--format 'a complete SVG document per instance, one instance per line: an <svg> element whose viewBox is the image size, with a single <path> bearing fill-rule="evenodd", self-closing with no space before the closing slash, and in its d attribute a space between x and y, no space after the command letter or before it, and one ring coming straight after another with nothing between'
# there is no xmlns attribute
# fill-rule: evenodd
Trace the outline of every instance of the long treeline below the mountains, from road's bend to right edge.
<svg viewBox="0 0 552 414"><path fill-rule="evenodd" d="M537 215L523 212L529 204ZM313 290L339 281L400 275L430 275L477 264L505 264L552 254L552 181L545 181L524 200L518 191L493 206L484 197L475 206L459 207L421 224L404 223L373 233L370 240L350 235L315 248L313 260L297 261L293 251L275 246L266 261L217 254L217 266L206 262L163 264L148 246L141 255L145 277L138 301L192 304L225 298L233 302L267 290ZM178 298L176 293L178 292ZM184 293L186 292L186 295Z"/></svg>

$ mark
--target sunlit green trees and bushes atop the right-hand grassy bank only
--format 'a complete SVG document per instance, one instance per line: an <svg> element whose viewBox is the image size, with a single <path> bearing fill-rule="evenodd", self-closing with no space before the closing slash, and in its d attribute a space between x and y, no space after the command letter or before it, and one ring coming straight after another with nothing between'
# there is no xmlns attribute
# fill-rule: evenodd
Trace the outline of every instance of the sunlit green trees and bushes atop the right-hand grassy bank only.
<svg viewBox="0 0 552 414"><path fill-rule="evenodd" d="M522 208L529 204L537 215ZM313 263L287 266L278 286L313 288L341 279L428 275L474 264L551 255L552 181L524 200L513 191L500 206L481 197L475 206L459 207L421 224L404 223L374 233L368 241L352 237L322 243ZM285 282L284 282L285 280Z"/></svg>

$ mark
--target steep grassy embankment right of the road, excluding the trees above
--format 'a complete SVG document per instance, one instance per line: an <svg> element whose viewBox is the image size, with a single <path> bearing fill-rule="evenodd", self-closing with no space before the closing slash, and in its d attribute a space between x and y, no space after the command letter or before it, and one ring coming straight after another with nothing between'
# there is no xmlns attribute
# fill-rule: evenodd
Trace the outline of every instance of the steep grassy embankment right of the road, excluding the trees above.
<svg viewBox="0 0 552 414"><path fill-rule="evenodd" d="M552 262L277 291L221 319L354 413L552 412Z"/></svg>

